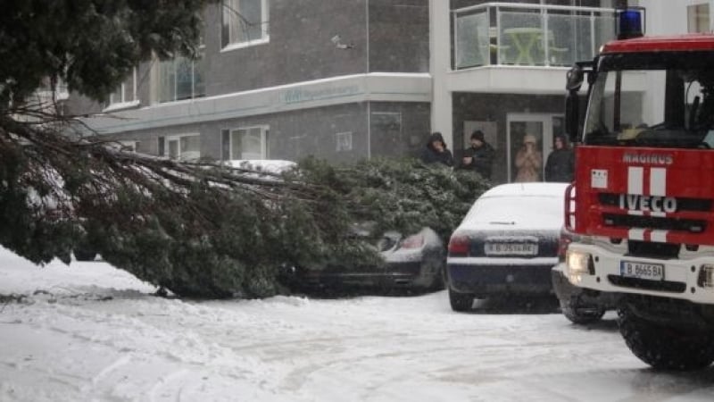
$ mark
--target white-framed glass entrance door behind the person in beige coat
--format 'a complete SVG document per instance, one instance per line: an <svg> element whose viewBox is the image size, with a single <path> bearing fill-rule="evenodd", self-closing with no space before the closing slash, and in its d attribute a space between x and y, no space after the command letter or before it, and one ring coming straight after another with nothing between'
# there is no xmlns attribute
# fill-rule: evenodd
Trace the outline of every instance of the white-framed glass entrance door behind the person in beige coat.
<svg viewBox="0 0 714 402"><path fill-rule="evenodd" d="M506 140L509 181L544 180L545 161L551 153L553 138L564 132L563 122L561 114L508 113ZM524 139L535 141L532 151L527 151Z"/></svg>

